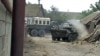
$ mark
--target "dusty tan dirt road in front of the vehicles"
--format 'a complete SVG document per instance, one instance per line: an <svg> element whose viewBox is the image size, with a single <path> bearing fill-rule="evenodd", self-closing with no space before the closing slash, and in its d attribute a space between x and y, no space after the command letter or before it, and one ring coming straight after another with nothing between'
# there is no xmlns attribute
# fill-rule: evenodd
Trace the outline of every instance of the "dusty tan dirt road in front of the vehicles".
<svg viewBox="0 0 100 56"><path fill-rule="evenodd" d="M79 43L52 42L50 36L27 37L24 56L100 56L99 43Z"/></svg>

